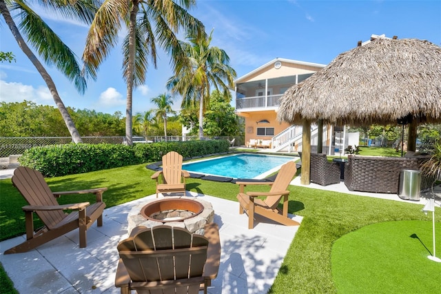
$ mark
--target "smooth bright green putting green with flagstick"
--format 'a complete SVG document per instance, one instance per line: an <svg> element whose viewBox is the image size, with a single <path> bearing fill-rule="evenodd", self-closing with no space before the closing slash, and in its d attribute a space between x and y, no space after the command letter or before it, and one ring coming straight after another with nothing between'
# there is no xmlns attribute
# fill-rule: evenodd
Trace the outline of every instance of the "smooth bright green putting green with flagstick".
<svg viewBox="0 0 441 294"><path fill-rule="evenodd" d="M427 258L432 254L432 222L371 224L334 243L332 275L339 293L440 293L433 282L441 279L441 264Z"/></svg>

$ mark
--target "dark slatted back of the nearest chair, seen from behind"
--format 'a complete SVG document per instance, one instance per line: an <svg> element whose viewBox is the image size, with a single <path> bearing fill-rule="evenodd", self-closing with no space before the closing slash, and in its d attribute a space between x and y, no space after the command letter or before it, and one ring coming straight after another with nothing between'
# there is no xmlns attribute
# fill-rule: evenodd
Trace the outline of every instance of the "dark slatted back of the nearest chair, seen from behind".
<svg viewBox="0 0 441 294"><path fill-rule="evenodd" d="M138 229L119 243L118 251L132 282L163 282L201 277L207 246L208 239L201 235L156 226Z"/></svg>

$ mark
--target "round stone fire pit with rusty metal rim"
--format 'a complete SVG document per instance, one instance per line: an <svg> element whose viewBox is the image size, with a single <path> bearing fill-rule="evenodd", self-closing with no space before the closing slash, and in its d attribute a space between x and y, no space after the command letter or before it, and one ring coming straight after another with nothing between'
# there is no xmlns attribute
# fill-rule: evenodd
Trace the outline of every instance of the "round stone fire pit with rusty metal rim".
<svg viewBox="0 0 441 294"><path fill-rule="evenodd" d="M205 224L213 222L211 203L198 197L166 197L152 199L130 210L127 216L127 232L135 226L176 226L191 233L203 235Z"/></svg>

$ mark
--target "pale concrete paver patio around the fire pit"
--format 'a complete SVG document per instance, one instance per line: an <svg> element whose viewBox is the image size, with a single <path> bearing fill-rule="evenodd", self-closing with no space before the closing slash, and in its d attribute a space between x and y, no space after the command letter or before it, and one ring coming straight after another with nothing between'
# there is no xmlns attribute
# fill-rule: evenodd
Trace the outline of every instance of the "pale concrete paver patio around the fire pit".
<svg viewBox="0 0 441 294"><path fill-rule="evenodd" d="M247 215L239 215L237 202L191 194L212 203L219 226L220 268L208 293L267 293L298 226L257 219L249 230ZM25 239L15 237L0 242L0 262L19 293L119 293L114 286L116 245L127 237L127 213L154 197L105 209L103 226L88 230L87 248L79 248L78 231L72 231L28 253L3 255ZM301 222L302 217L291 217Z"/></svg>

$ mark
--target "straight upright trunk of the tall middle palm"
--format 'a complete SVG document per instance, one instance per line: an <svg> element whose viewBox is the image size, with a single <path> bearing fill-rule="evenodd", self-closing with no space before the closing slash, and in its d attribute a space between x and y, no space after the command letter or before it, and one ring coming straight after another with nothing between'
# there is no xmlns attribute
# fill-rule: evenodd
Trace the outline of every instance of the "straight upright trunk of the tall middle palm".
<svg viewBox="0 0 441 294"><path fill-rule="evenodd" d="M125 104L125 140L128 145L133 145L132 139L132 106L133 106L133 84L134 67L136 55L136 14L139 11L139 1L132 0L129 26L129 61L127 64L127 101Z"/></svg>

